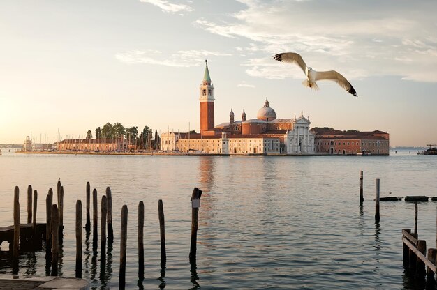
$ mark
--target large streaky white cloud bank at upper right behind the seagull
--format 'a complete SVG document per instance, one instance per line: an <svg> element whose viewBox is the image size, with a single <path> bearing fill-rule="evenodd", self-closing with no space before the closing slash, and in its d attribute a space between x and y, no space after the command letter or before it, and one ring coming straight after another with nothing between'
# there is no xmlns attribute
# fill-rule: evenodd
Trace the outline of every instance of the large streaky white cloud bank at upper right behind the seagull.
<svg viewBox="0 0 437 290"><path fill-rule="evenodd" d="M335 69L348 79L397 75L437 82L435 1L237 1L244 8L225 20L194 24L236 39L236 51L249 56L243 65L251 76L302 78L302 71L267 57L299 52L314 69Z"/></svg>

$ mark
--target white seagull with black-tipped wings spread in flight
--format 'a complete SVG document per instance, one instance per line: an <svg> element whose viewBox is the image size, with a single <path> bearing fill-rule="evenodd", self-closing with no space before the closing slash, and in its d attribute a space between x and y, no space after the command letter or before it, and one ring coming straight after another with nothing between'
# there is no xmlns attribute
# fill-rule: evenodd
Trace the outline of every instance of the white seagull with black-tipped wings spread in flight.
<svg viewBox="0 0 437 290"><path fill-rule="evenodd" d="M318 72L316 70L313 70L309 66L306 66L306 63L304 59L302 59L302 56L300 56L300 54L297 54L295 52L283 52L282 54L275 54L273 58L276 59L276 61L282 61L285 63L296 63L297 66L302 68L306 75L306 79L304 80L304 82L302 82L304 86L308 86L311 89L318 90L316 81L327 79L336 82L343 89L348 91L348 93L353 94L353 96L358 96L352 84L348 82L346 77L343 77L343 75L340 75L335 70L327 70L326 72Z"/></svg>

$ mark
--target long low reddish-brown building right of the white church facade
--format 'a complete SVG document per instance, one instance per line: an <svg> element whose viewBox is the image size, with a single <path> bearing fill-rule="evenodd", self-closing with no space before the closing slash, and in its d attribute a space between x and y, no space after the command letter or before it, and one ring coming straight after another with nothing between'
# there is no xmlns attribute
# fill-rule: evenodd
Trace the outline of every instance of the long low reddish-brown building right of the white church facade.
<svg viewBox="0 0 437 290"><path fill-rule="evenodd" d="M390 135L379 130L343 132L334 129L314 129L316 153L341 155L389 155Z"/></svg>

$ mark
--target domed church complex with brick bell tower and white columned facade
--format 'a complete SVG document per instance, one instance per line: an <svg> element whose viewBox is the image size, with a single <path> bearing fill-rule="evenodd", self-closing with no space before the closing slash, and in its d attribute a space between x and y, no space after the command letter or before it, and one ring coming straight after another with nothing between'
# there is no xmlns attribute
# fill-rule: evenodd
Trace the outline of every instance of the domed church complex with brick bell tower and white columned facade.
<svg viewBox="0 0 437 290"><path fill-rule="evenodd" d="M214 86L205 61L205 73L200 85L200 133L164 132L161 134L163 151L218 154L313 154L314 134L309 130L309 117L277 119L269 100L258 110L256 119L235 121L233 109L229 122L215 125Z"/></svg>

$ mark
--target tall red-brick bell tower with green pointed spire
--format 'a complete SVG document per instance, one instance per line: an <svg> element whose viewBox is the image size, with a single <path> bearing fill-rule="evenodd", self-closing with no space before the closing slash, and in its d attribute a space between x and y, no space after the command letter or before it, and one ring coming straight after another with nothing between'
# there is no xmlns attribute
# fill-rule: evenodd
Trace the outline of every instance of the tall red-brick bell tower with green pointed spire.
<svg viewBox="0 0 437 290"><path fill-rule="evenodd" d="M214 132L214 86L209 77L208 62L205 60L205 74L200 85L200 134ZM214 134L214 133L213 133Z"/></svg>

